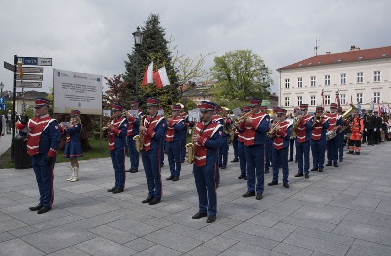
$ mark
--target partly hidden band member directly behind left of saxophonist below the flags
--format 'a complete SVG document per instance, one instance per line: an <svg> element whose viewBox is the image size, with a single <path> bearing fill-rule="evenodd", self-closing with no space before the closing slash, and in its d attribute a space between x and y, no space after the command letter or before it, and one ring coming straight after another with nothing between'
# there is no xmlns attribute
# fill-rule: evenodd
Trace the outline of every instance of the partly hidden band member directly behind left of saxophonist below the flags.
<svg viewBox="0 0 391 256"><path fill-rule="evenodd" d="M138 112L137 117L133 117L129 112L126 113L126 117L129 122L128 131L126 134L126 140L129 149L130 168L126 172L137 173L139 171L139 152L136 150L135 140L133 137L139 134L140 117L143 112L139 111L139 102L130 101L130 109Z"/></svg>

